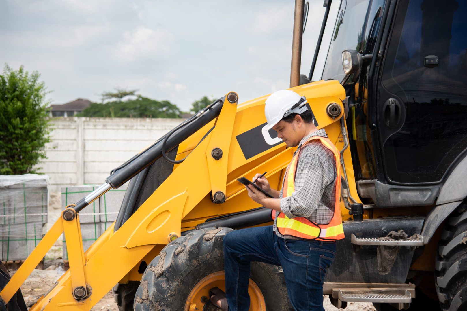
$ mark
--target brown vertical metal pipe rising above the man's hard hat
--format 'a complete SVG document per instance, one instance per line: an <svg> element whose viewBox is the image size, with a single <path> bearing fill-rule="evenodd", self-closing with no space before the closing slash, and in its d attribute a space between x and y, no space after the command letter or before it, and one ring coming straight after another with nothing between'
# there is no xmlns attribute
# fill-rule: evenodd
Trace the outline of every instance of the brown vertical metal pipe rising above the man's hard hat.
<svg viewBox="0 0 467 311"><path fill-rule="evenodd" d="M293 20L292 62L290 66L290 87L300 84L300 64L302 59L303 9L304 0L295 0Z"/></svg>

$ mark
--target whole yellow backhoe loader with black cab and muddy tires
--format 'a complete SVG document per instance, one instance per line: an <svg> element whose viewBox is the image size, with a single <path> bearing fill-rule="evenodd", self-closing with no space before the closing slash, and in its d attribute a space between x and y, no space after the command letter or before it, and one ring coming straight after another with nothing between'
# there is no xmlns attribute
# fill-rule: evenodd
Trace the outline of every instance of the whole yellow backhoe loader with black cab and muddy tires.
<svg viewBox="0 0 467 311"><path fill-rule="evenodd" d="M324 6L300 77L305 7L296 1L290 84L342 155L346 238L324 292L337 307L466 310L467 2ZM112 288L121 311L215 310L207 297L224 288L222 238L271 224L237 178L268 172L279 189L295 149L264 130L266 98L240 104L227 93L68 205L11 279L1 274L3 310L26 309L19 288L62 232L70 269L30 310L90 310ZM128 180L117 220L83 252L79 212ZM280 267L253 264L249 294L252 311L293 310Z"/></svg>

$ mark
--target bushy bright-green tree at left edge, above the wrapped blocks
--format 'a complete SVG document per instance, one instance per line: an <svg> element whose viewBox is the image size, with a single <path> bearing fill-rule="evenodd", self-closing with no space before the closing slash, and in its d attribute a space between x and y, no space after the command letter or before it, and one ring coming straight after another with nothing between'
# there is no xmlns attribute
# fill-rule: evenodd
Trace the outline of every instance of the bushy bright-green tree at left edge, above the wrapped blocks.
<svg viewBox="0 0 467 311"><path fill-rule="evenodd" d="M0 75L0 174L35 173L50 142L48 93L37 71L5 65Z"/></svg>

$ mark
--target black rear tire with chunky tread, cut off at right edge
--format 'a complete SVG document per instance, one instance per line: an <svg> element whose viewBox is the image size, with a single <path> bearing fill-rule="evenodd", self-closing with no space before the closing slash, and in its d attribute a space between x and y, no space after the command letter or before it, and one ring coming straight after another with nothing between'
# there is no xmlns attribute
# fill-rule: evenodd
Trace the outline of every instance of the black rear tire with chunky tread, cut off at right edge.
<svg viewBox="0 0 467 311"><path fill-rule="evenodd" d="M435 285L443 311L467 308L467 205L447 219L438 242Z"/></svg>

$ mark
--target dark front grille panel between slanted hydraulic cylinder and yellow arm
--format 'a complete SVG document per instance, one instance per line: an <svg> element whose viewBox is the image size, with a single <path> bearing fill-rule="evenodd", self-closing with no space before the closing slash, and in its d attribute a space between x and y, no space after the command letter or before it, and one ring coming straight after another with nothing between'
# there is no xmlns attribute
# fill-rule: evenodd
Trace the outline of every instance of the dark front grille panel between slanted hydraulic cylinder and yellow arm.
<svg viewBox="0 0 467 311"><path fill-rule="evenodd" d="M175 160L177 156L177 149L175 147L167 153L169 159ZM137 210L146 200L148 200L149 196L156 191L156 189L164 182L164 180L169 177L174 169L174 165L170 164L163 157L160 157L156 160L151 166L149 167L148 175L146 175L146 179L141 187L140 195L138 197L137 203L134 207L134 210Z"/></svg>

